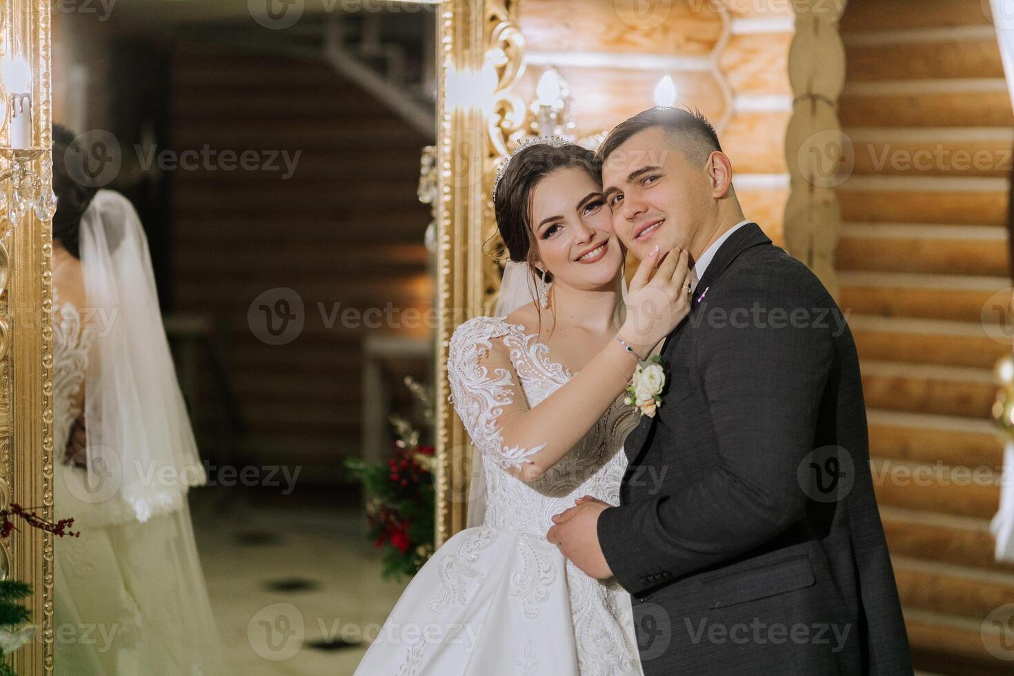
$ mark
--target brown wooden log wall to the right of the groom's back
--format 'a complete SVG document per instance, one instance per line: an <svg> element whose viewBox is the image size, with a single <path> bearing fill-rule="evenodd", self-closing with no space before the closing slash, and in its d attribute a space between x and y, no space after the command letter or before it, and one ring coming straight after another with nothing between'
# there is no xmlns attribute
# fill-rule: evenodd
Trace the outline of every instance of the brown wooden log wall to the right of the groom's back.
<svg viewBox="0 0 1014 676"><path fill-rule="evenodd" d="M1000 660L983 642L987 615L1014 601L1014 566L994 561L988 530L1002 465L993 366L1011 337L1004 317L984 318L1011 286L1014 116L984 5L851 0L841 23L855 161L839 189L840 301L916 668L962 676L1014 673L1014 650Z"/></svg>

